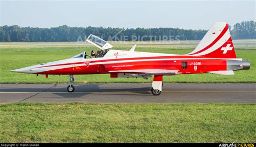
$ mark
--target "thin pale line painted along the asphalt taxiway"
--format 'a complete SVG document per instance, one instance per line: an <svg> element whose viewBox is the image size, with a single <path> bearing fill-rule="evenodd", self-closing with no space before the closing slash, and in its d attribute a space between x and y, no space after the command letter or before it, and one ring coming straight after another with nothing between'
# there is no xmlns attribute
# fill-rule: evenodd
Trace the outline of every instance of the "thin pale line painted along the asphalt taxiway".
<svg viewBox="0 0 256 147"><path fill-rule="evenodd" d="M151 91L84 91L84 92L0 92L0 93L136 93ZM163 91L163 93L256 93L256 91Z"/></svg>

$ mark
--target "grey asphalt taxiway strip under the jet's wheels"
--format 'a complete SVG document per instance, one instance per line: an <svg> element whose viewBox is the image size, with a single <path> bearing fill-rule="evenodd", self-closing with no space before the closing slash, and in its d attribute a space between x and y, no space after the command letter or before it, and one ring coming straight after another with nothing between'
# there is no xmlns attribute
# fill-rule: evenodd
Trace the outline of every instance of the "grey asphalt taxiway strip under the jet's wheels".
<svg viewBox="0 0 256 147"><path fill-rule="evenodd" d="M164 84L151 94L151 84L0 84L0 103L11 102L232 102L255 103L256 84Z"/></svg>

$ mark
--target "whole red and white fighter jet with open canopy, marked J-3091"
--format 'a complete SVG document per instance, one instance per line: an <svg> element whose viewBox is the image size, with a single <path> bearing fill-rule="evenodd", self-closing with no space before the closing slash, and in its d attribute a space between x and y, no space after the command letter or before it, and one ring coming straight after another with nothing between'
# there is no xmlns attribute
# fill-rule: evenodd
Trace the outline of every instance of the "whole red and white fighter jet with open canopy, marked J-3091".
<svg viewBox="0 0 256 147"><path fill-rule="evenodd" d="M250 69L250 62L237 58L227 23L214 23L193 52L185 55L109 50L112 46L95 35L87 40L99 50L95 57L85 52L65 60L42 63L12 72L48 75L69 75L68 91L75 87L74 75L110 73L111 78L153 77L151 92L161 94L163 76L194 73L233 75L234 70Z"/></svg>

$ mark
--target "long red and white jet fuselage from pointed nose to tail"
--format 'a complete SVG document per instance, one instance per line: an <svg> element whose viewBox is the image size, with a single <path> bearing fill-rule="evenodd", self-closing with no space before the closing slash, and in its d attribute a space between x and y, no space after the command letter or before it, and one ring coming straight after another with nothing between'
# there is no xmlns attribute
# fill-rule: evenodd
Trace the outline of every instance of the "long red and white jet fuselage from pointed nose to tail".
<svg viewBox="0 0 256 147"><path fill-rule="evenodd" d="M228 70L227 61L242 61L242 58L208 58L146 52L131 53L124 50L109 50L104 57L99 58L85 57L73 57L42 63L14 71L43 75L83 75L122 70L127 72L129 70L166 69L177 70L179 74L191 74Z"/></svg>

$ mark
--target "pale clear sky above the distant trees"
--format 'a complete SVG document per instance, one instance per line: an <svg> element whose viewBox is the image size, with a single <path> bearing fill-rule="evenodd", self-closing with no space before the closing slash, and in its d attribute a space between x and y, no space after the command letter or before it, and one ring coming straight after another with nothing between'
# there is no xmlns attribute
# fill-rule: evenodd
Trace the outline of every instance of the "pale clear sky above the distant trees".
<svg viewBox="0 0 256 147"><path fill-rule="evenodd" d="M255 1L6 1L0 0L0 26L208 30L215 21L231 26L255 21Z"/></svg>

